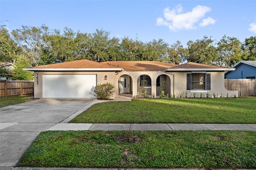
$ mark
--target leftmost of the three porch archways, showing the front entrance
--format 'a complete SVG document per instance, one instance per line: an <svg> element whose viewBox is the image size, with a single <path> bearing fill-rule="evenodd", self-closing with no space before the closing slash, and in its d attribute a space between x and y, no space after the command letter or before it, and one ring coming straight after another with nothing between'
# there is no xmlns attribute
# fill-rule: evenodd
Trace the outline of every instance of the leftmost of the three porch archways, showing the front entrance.
<svg viewBox="0 0 256 170"><path fill-rule="evenodd" d="M122 75L118 79L119 94L132 95L132 77L129 75Z"/></svg>

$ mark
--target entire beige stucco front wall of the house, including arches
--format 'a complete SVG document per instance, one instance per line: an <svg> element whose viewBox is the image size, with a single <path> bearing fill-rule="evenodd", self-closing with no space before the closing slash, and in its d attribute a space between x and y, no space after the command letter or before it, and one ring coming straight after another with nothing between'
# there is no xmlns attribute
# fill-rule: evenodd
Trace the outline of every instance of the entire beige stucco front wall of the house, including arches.
<svg viewBox="0 0 256 170"><path fill-rule="evenodd" d="M167 93L169 97L172 97L173 94L178 97L179 93L182 93L182 97L185 97L185 92L187 91L187 97L193 97L193 93L195 91L186 90L187 84L187 73L190 72L165 72L165 71L122 71L115 73L114 71L109 72L94 72L94 71L87 71L87 72L34 72L34 97L35 98L42 98L42 75L43 74L96 74L97 82L96 84L103 84L103 83L112 83L115 86L115 92L112 98L118 97L119 89L118 89L118 79L122 75L129 75L132 79L131 86L132 86L132 96L135 97L139 94L140 90L140 75L148 75L151 78L151 88L148 89L148 95L155 97L158 96L159 91L157 91L156 87L156 79L160 76L161 80L167 81ZM196 97L200 97L200 93L202 93L202 97L206 97L206 93L210 94L210 97L213 97L213 93L216 94L216 97L220 97L222 93L222 97L226 97L226 93L228 93L229 97L233 97L234 94L238 97L238 91L228 91L224 87L224 71L222 72L206 72L211 74L211 89L207 91L196 91ZM105 75L107 76L107 80L104 80ZM164 75L166 77L164 77ZM165 78L165 79L164 79Z"/></svg>

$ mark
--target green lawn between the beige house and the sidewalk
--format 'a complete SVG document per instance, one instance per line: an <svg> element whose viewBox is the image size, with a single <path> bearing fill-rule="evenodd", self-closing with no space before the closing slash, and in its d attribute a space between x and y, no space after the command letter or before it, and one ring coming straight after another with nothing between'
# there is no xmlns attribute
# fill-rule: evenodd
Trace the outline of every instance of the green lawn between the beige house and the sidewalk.
<svg viewBox="0 0 256 170"><path fill-rule="evenodd" d="M256 123L256 98L133 99L93 105L70 123Z"/></svg>

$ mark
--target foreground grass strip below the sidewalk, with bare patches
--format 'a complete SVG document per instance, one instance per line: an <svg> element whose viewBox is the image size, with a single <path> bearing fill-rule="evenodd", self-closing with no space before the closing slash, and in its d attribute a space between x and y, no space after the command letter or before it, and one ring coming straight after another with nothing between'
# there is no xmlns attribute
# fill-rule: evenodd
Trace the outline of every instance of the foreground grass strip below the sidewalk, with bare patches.
<svg viewBox="0 0 256 170"><path fill-rule="evenodd" d="M17 166L256 168L256 132L46 131Z"/></svg>

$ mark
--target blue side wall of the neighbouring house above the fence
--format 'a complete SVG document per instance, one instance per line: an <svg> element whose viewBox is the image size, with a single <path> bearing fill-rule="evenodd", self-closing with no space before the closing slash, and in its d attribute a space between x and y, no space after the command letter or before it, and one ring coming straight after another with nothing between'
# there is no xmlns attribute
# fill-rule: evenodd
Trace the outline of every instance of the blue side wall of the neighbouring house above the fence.
<svg viewBox="0 0 256 170"><path fill-rule="evenodd" d="M245 79L246 77L256 77L256 67L241 63L236 70L226 73L226 79Z"/></svg>

